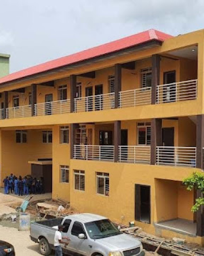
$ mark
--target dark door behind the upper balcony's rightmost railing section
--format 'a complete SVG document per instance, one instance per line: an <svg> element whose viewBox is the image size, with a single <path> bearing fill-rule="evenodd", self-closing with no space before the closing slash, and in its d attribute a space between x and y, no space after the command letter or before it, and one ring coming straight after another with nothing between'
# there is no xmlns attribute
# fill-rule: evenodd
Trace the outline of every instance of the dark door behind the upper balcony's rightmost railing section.
<svg viewBox="0 0 204 256"><path fill-rule="evenodd" d="M164 72L163 102L176 100L175 70Z"/></svg>

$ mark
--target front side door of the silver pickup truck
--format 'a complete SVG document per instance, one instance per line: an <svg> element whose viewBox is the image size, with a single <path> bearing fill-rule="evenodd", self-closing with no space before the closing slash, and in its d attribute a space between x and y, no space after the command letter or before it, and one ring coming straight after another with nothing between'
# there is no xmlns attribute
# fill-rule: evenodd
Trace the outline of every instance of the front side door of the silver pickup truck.
<svg viewBox="0 0 204 256"><path fill-rule="evenodd" d="M85 234L85 239L80 239L79 234ZM72 225L68 237L71 239L68 247L69 250L82 255L89 255L91 252L93 241L87 236L82 223L75 221Z"/></svg>

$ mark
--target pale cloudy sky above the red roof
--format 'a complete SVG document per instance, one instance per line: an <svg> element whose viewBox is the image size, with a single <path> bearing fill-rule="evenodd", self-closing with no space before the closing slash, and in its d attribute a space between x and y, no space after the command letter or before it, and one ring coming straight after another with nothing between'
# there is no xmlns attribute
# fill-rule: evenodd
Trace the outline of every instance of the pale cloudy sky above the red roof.
<svg viewBox="0 0 204 256"><path fill-rule="evenodd" d="M0 52L10 73L157 29L204 28L204 0L0 0Z"/></svg>

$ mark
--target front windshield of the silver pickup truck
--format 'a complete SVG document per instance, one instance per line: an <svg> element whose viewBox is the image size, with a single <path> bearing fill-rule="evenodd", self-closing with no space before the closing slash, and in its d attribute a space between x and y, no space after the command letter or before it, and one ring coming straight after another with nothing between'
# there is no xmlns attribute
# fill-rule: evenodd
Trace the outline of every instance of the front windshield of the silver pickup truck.
<svg viewBox="0 0 204 256"><path fill-rule="evenodd" d="M121 233L108 219L87 222L85 227L91 239L107 238Z"/></svg>

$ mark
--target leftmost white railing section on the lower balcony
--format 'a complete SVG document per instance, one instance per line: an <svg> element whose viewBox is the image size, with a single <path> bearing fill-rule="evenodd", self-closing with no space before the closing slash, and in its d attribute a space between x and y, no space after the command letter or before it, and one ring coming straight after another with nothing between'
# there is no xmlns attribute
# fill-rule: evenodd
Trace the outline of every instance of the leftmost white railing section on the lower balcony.
<svg viewBox="0 0 204 256"><path fill-rule="evenodd" d="M74 145L74 159L114 161L114 146Z"/></svg>

